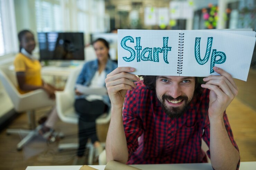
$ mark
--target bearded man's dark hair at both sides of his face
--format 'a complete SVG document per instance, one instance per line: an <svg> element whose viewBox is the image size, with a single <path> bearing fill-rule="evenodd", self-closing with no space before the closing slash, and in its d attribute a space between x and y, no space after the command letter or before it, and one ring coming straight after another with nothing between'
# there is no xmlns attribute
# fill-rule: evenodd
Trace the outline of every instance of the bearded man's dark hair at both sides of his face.
<svg viewBox="0 0 256 170"><path fill-rule="evenodd" d="M143 77L143 83L145 86L150 89L150 90L155 90L156 89L156 77L157 76L139 76ZM197 94L201 91L201 86L200 86L200 79L199 77L195 77L195 92L194 94Z"/></svg>

